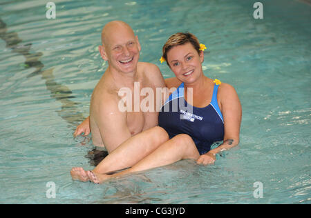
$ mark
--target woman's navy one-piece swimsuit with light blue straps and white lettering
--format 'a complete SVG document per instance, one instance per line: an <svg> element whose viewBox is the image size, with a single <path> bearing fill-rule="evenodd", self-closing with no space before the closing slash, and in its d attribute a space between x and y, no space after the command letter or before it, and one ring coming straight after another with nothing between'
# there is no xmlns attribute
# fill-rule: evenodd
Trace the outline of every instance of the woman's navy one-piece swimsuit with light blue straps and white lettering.
<svg viewBox="0 0 311 218"><path fill-rule="evenodd" d="M160 110L159 126L167 131L170 139L182 133L189 135L200 155L211 150L214 142L223 141L224 125L217 101L218 86L214 85L211 103L205 108L189 104L189 110L184 97L184 83L169 96Z"/></svg>

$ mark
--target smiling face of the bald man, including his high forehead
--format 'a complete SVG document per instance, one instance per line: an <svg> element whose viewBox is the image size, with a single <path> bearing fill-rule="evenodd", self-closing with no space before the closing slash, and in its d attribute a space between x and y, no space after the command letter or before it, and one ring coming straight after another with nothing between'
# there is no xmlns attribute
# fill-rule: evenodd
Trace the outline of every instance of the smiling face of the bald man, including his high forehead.
<svg viewBox="0 0 311 218"><path fill-rule="evenodd" d="M109 66L119 72L134 72L140 58L140 43L133 30L115 28L106 37L105 52Z"/></svg>

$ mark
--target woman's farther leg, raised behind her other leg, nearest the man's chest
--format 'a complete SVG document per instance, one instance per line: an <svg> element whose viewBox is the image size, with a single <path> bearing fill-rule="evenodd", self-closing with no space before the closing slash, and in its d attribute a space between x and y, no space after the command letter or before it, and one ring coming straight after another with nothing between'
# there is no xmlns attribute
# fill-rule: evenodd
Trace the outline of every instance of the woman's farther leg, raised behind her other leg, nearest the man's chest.
<svg viewBox="0 0 311 218"><path fill-rule="evenodd" d="M169 135L160 126L140 132L113 150L96 166L93 172L104 174L129 168L168 140ZM73 168L70 173L73 179L88 181L88 176L83 168Z"/></svg>

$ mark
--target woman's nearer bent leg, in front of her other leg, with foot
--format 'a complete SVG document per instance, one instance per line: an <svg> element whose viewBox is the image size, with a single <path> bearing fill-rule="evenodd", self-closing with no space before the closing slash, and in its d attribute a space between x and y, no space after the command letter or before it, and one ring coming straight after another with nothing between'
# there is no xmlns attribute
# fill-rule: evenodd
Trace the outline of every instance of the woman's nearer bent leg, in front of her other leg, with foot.
<svg viewBox="0 0 311 218"><path fill-rule="evenodd" d="M189 137L189 135L180 134L163 143L162 146L159 146L150 155L138 161L138 163L135 164L132 168L122 172L117 172L113 175L100 175L91 171L88 171L87 173L91 181L99 184L106 179L120 177L131 172L138 172L159 166L173 164L174 162L180 161L181 159L198 159L199 157L200 154L191 137Z"/></svg>

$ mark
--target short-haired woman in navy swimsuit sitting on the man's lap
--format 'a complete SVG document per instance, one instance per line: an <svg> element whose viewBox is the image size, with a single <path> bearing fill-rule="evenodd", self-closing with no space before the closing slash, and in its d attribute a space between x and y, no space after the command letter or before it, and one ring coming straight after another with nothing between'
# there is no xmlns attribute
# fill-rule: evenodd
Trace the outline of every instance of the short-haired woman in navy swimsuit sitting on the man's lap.
<svg viewBox="0 0 311 218"><path fill-rule="evenodd" d="M176 75L166 79L167 88L176 91L162 106L159 126L131 137L94 170L84 171L94 183L181 159L213 164L218 152L238 144L242 117L238 95L229 84L205 77L204 53L194 34L173 34L163 46L162 59ZM160 144L149 140L154 134L162 139ZM223 143L211 149L215 141ZM123 168L127 169L111 174Z"/></svg>

